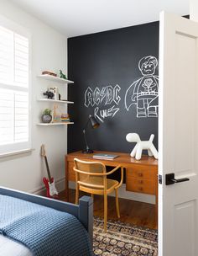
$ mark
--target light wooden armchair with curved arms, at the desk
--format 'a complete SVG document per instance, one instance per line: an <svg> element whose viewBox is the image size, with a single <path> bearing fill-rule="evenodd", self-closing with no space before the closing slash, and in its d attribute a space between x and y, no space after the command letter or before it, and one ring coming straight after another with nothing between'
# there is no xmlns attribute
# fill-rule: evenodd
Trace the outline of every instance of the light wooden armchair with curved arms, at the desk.
<svg viewBox="0 0 198 256"><path fill-rule="evenodd" d="M107 195L115 190L117 217L120 217L117 189L123 182L123 168L121 165L107 173L106 166L101 162L86 162L74 158L76 171L76 204L78 204L79 190L93 195L104 195L104 232L107 232ZM107 175L121 168L121 180L107 179Z"/></svg>

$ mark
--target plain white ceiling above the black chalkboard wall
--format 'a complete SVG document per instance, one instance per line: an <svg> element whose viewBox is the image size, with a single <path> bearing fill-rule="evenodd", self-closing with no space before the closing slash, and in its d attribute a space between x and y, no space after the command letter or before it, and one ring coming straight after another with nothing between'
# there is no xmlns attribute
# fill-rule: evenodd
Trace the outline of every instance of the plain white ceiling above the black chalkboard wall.
<svg viewBox="0 0 198 256"><path fill-rule="evenodd" d="M189 14L189 0L10 0L68 37Z"/></svg>

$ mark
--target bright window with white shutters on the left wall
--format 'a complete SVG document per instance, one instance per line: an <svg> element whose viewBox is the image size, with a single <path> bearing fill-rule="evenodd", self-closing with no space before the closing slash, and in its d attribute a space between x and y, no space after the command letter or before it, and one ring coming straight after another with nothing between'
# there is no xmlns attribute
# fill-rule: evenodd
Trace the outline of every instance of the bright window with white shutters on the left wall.
<svg viewBox="0 0 198 256"><path fill-rule="evenodd" d="M29 36L0 25L0 154L30 148Z"/></svg>

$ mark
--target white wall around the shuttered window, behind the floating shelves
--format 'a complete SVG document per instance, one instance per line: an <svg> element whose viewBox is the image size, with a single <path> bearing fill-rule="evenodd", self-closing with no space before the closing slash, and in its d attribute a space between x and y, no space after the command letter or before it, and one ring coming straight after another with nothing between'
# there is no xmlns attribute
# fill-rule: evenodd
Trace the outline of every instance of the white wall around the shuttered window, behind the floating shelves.
<svg viewBox="0 0 198 256"><path fill-rule="evenodd" d="M37 77L43 70L66 72L66 37L15 7L7 0L0 0L0 15L12 19L27 28L32 35L32 147L34 152L18 157L0 159L0 185L9 188L35 192L43 186L46 176L44 161L39 155L40 145L46 146L50 170L57 181L64 181L64 156L67 152L67 128L61 126L41 127L39 122L41 109L49 107L36 101L50 84ZM59 85L64 88L65 85ZM61 91L62 93L62 91ZM63 188L62 188L63 189Z"/></svg>

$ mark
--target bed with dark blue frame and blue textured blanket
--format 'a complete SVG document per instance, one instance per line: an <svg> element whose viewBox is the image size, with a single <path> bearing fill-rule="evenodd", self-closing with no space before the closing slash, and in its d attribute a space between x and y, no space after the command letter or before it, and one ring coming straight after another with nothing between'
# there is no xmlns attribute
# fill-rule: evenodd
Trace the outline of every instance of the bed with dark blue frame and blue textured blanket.
<svg viewBox="0 0 198 256"><path fill-rule="evenodd" d="M0 187L0 255L92 256L92 229L88 196L73 205Z"/></svg>

